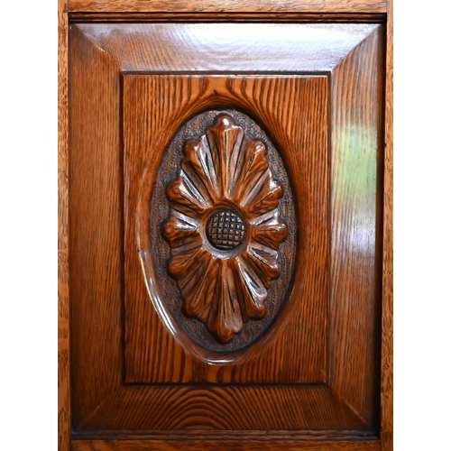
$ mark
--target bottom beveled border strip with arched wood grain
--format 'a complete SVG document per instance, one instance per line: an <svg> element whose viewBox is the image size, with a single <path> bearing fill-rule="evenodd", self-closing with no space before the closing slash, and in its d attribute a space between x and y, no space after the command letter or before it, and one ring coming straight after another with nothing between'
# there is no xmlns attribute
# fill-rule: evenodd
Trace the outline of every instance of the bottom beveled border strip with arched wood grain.
<svg viewBox="0 0 451 451"><path fill-rule="evenodd" d="M79 430L191 431L194 437L281 437L299 431L362 436L366 424L326 385L129 386L112 393ZM361 432L358 432L358 431ZM233 432L231 432L233 431ZM335 434L332 431L336 431Z"/></svg>

